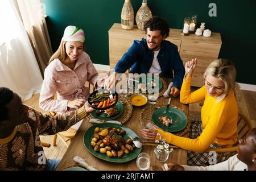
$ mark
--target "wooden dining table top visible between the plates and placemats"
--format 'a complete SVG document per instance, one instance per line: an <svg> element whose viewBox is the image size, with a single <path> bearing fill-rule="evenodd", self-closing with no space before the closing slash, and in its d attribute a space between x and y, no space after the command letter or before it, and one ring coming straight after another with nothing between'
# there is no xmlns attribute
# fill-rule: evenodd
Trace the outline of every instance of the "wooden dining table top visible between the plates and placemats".
<svg viewBox="0 0 256 182"><path fill-rule="evenodd" d="M170 84L172 81L170 78L163 78L164 81L166 81L167 85ZM158 104L167 104L168 98L160 97L157 101ZM131 130L134 131L139 137L141 137L141 122L139 120L141 111L143 108L150 105L147 103L144 106L141 107L133 107L133 113L131 115L131 118L129 121L125 123L125 127L129 127ZM180 109L184 110L188 114L188 105L181 104L178 97L172 97L171 105L177 106ZM125 163L113 163L108 162L106 160L102 160L91 154L86 147L84 146L84 134L85 132L91 127L92 124L89 123L88 119L84 119L81 123L81 126L79 127L79 130L77 130L75 137L73 138L71 144L69 145L67 151L65 152L63 158L61 159L61 162L57 168L57 170L61 170L64 168L67 168L69 166L72 166L75 164L73 162L73 158L75 156L80 156L82 159L86 160L86 163L88 163L90 166L94 166L98 170L104 170L104 171L135 171L139 170L139 168L136 165L136 158L133 160L130 160L129 162ZM184 135L184 137L187 137L187 134ZM160 163L154 159L153 151L155 146L148 146L143 145L141 152L147 152L147 154L150 155L151 165L150 170L151 171L158 171L162 170L161 166L164 163L177 163L177 164L187 164L187 151L183 150L181 148L174 149L168 158L168 160L164 163Z"/></svg>

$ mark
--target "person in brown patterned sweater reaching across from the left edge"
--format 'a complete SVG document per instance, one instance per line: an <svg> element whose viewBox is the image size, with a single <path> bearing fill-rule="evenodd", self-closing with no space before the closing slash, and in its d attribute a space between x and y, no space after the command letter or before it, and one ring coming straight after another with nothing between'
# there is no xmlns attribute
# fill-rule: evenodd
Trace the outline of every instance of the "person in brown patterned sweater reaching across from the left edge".
<svg viewBox="0 0 256 182"><path fill-rule="evenodd" d="M0 88L0 170L54 170L58 162L46 159L39 135L69 129L94 109L79 109L51 117L22 104L8 88Z"/></svg>

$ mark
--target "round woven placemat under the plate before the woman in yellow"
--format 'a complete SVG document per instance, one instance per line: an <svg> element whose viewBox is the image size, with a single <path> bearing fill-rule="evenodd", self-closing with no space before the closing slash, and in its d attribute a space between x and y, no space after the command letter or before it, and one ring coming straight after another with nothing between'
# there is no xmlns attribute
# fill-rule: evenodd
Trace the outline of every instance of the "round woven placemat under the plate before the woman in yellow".
<svg viewBox="0 0 256 182"><path fill-rule="evenodd" d="M154 105L150 105L150 106L145 107L141 111L141 115L139 117L139 120L141 121L141 127L142 128L146 127L148 122L151 122L152 124L154 124L153 121L152 121L152 114L157 109L156 107L165 107L165 106L166 105L164 105L164 104L154 104ZM189 126L190 126L190 119L188 117L188 113L185 112L184 110L180 109L179 107L176 107L176 106L173 106L173 105L171 105L171 106L183 111L183 113L185 113L185 115L188 118L188 124L183 130L177 131L177 132L172 132L172 134L174 134L174 135L183 136L188 132Z"/></svg>

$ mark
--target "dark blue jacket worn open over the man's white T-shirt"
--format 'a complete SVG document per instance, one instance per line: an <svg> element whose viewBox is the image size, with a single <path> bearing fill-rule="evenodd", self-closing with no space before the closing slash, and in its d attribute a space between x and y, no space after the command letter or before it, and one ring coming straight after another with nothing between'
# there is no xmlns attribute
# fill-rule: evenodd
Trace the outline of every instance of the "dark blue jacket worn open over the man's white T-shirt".
<svg viewBox="0 0 256 182"><path fill-rule="evenodd" d="M174 86L181 88L185 69L180 59L177 46L167 40L163 40L158 53L158 61L162 73L160 76L166 78L174 77ZM129 73L148 73L154 59L154 52L147 47L146 39L134 40L133 46L130 47L121 60L115 66L115 72L124 73L130 69ZM173 72L174 71L174 74Z"/></svg>

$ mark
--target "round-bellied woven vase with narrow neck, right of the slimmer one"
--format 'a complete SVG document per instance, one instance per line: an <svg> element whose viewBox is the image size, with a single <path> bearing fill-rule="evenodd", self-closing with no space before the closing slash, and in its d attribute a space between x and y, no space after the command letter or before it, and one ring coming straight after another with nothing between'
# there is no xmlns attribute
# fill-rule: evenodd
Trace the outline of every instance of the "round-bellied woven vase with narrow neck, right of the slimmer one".
<svg viewBox="0 0 256 182"><path fill-rule="evenodd" d="M136 23L139 30L144 30L144 24L152 18L152 13L147 6L147 0L142 1L142 6L139 8L136 14Z"/></svg>

